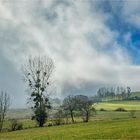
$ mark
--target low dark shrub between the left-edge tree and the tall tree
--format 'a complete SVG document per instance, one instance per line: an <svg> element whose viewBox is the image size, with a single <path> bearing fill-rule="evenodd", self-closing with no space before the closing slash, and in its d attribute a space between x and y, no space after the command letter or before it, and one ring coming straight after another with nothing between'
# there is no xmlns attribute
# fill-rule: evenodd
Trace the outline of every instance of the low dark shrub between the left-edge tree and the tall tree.
<svg viewBox="0 0 140 140"><path fill-rule="evenodd" d="M12 119L11 120L11 130L16 131L16 130L21 130L21 129L23 129L23 124L19 123L17 121L17 119Z"/></svg>

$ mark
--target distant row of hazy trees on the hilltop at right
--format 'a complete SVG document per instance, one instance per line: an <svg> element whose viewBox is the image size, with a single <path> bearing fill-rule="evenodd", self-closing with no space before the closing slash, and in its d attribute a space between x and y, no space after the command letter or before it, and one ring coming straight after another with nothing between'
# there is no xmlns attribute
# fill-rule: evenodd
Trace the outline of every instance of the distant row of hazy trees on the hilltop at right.
<svg viewBox="0 0 140 140"><path fill-rule="evenodd" d="M110 88L106 88L106 87L102 87L99 88L99 90L97 91L97 96L99 98L105 98L105 97L110 97L112 99L114 99L114 97L117 97L117 99L119 100L124 100L124 99L128 99L131 95L131 88L130 87L110 87Z"/></svg>

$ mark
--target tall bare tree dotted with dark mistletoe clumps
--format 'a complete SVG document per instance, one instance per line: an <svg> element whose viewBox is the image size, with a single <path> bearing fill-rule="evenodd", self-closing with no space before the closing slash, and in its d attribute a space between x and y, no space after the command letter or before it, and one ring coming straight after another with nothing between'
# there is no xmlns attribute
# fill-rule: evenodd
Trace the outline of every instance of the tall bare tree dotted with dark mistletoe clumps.
<svg viewBox="0 0 140 140"><path fill-rule="evenodd" d="M50 85L51 75L54 69L53 60L49 57L34 57L22 66L24 80L30 89L29 101L34 111L33 119L40 127L43 127L47 118L47 109L50 102L46 96L46 91Z"/></svg>

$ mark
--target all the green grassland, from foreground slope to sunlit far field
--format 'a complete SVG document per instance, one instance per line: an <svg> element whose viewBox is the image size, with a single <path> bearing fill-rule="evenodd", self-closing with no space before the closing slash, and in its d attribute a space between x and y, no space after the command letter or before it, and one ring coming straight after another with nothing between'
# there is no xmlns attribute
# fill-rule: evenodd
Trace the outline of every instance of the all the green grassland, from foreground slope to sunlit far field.
<svg viewBox="0 0 140 140"><path fill-rule="evenodd" d="M35 121L19 119L19 122L23 123L24 129L0 133L0 140L132 140L140 138L139 101L109 101L93 106L97 112L92 115L88 123L83 123L80 117L76 117L77 123L75 124L48 127L48 124L52 123L50 120L45 127L37 128ZM114 111L118 107L123 107L127 111ZM101 108L106 111L100 111ZM131 117L130 110L136 110L134 118ZM6 121L4 127L10 127L10 121Z"/></svg>

